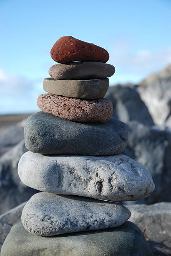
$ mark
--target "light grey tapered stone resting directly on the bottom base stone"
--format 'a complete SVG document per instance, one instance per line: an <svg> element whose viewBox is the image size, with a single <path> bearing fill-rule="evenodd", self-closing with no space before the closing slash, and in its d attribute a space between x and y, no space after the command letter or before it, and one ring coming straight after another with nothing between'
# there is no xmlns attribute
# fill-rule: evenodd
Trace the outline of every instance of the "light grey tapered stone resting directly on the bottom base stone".
<svg viewBox="0 0 171 256"><path fill-rule="evenodd" d="M117 227L130 215L126 207L113 202L40 192L27 202L21 220L32 234L54 236Z"/></svg>

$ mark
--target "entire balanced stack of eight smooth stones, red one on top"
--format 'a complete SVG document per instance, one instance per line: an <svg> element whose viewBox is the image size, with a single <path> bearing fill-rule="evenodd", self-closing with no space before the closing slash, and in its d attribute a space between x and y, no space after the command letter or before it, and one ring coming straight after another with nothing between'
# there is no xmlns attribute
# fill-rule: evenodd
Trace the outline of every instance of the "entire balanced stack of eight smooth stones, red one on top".
<svg viewBox="0 0 171 256"><path fill-rule="evenodd" d="M154 184L121 154L127 126L111 118L112 103L103 98L106 77L115 72L108 52L64 36L51 57L59 64L44 79L42 111L25 124L29 151L18 164L21 181L42 192L25 205L23 225L13 226L1 255L152 255L141 230L127 221L129 210L109 202L143 199Z"/></svg>

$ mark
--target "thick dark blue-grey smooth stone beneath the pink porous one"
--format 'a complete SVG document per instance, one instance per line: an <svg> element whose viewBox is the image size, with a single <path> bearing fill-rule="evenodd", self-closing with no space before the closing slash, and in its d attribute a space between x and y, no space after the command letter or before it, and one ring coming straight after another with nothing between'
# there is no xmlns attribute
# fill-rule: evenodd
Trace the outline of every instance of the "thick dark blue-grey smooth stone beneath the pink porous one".
<svg viewBox="0 0 171 256"><path fill-rule="evenodd" d="M30 115L25 124L29 151L52 155L115 155L127 145L127 126L111 118L103 124L76 123L44 112Z"/></svg>

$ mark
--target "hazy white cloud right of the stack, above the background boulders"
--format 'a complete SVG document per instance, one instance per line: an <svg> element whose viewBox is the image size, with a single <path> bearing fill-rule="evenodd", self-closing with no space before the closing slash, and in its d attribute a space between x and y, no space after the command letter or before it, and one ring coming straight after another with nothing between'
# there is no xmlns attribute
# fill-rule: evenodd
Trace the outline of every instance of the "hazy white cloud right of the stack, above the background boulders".
<svg viewBox="0 0 171 256"><path fill-rule="evenodd" d="M159 72L171 64L171 46L158 51L134 51L130 44L117 43L108 63L116 67L116 74L110 79L111 83L137 83L149 74Z"/></svg>

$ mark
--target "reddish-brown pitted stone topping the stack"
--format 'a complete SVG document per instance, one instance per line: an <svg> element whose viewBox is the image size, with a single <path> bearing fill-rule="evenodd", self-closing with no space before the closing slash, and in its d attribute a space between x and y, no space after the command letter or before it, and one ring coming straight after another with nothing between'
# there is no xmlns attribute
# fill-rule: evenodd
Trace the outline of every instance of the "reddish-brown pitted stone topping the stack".
<svg viewBox="0 0 171 256"><path fill-rule="evenodd" d="M87 60L107 62L108 52L100 46L86 43L72 36L63 36L53 45L50 55L56 62Z"/></svg>

